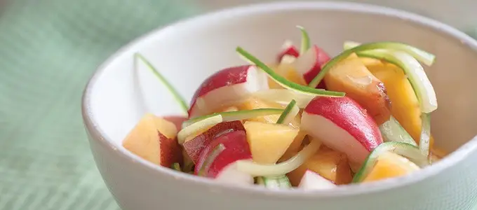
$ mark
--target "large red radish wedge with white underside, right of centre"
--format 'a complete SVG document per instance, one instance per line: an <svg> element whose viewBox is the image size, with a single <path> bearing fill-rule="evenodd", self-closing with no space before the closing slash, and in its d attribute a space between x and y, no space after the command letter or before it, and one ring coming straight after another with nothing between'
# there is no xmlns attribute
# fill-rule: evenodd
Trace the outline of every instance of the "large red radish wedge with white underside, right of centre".
<svg viewBox="0 0 477 210"><path fill-rule="evenodd" d="M375 120L349 97L315 97L304 109L302 130L358 164L382 144Z"/></svg>

